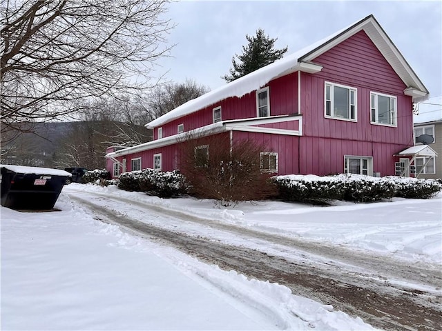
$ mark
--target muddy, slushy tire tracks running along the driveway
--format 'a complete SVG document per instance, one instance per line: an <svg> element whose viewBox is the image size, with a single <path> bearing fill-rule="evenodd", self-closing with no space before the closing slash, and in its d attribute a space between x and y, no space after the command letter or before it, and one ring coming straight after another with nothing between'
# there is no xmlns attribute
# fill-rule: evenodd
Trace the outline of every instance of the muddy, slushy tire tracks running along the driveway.
<svg viewBox="0 0 442 331"><path fill-rule="evenodd" d="M102 215L102 221L117 223L148 239L155 237L167 245L172 245L203 261L215 263L225 270L233 269L248 277L286 285L294 294L309 297L325 304L332 304L338 310L359 316L378 328L385 330L439 330L442 323L440 297L438 298L434 293L410 291L397 286L395 288L386 282L376 280L378 277L376 274L388 272L387 274L402 274L400 278L408 281L412 279L425 283L425 280L428 280L430 285L434 285L434 283L440 285L441 277L437 270L425 270L427 277L422 279L423 270L413 265L404 265L392 260L385 261L385 258L355 253L343 248L302 242L278 234L241 228L237 225L217 223L184 212L166 210L157 205L146 205L146 203L129 201L121 197L112 198L95 193L88 195L90 195L88 200L74 197L72 194L70 197ZM294 259L270 255L259 250L227 245L167 230L157 225L130 219L113 210L107 210L90 199L94 195L113 201L114 204L131 203L131 205L137 205L151 214L162 214L184 221L192 221L237 235L263 239L271 243L287 245L290 248L298 248L305 252L325 255L332 261L329 265L300 263ZM369 279L365 277L366 275L354 272L354 270L345 270L343 265L339 263L339 265L335 265L333 261L336 259L356 266L362 265L363 268L370 268L369 270L374 273L372 274L374 279ZM409 276L410 278L408 278Z"/></svg>

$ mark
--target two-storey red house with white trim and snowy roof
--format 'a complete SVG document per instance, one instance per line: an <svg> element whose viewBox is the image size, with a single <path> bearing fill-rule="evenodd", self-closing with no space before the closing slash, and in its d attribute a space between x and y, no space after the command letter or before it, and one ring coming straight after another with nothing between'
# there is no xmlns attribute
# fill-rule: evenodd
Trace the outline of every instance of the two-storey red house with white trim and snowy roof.
<svg viewBox="0 0 442 331"><path fill-rule="evenodd" d="M192 132L265 143L263 172L407 175L414 155L399 153L414 144L413 103L428 93L370 15L147 123L154 140L108 148L107 168L179 169Z"/></svg>

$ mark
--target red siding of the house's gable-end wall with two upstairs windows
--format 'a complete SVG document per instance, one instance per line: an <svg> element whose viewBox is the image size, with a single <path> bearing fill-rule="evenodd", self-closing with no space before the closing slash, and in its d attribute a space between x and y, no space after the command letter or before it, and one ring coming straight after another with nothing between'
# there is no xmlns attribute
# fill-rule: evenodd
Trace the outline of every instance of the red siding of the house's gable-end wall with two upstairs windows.
<svg viewBox="0 0 442 331"><path fill-rule="evenodd" d="M323 70L301 75L301 172L343 172L343 156L349 154L372 156L374 172L394 174L393 154L413 144L412 99L403 94L403 81L363 31L313 61ZM357 89L357 122L325 118L325 81ZM370 92L397 97L396 128L370 123ZM330 165L316 164L315 153L325 154Z"/></svg>

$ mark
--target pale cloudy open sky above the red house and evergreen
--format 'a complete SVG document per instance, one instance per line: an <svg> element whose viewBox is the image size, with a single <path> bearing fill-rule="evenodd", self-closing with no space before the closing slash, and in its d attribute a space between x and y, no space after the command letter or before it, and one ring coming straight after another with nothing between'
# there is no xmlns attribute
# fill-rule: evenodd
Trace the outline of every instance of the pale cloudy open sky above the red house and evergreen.
<svg viewBox="0 0 442 331"><path fill-rule="evenodd" d="M441 1L180 1L169 8L177 24L169 42L177 45L159 63L176 83L222 86L246 34L258 28L291 54L374 14L432 97L442 95Z"/></svg>

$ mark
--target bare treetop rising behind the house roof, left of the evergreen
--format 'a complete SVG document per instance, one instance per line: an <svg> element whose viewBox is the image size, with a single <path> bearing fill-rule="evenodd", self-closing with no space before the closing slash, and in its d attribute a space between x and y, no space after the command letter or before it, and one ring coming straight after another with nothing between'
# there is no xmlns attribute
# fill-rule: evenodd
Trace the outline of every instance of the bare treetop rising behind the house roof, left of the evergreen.
<svg viewBox="0 0 442 331"><path fill-rule="evenodd" d="M208 87L191 79L186 79L184 83L167 83L155 87L146 99L146 106L151 114L149 121L170 112L187 101L200 97L206 92L209 92Z"/></svg>

